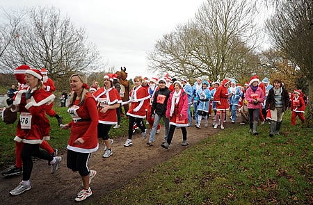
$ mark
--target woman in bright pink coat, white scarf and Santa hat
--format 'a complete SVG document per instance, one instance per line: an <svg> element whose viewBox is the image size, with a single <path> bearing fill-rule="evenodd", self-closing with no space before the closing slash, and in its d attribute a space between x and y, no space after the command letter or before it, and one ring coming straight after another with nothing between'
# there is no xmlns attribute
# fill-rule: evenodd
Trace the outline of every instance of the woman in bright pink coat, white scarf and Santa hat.
<svg viewBox="0 0 313 205"><path fill-rule="evenodd" d="M175 81L173 85L175 90L170 94L166 109L166 117L170 119L170 132L168 133L168 140L161 144L165 149L170 149L172 136L177 126L182 130L182 146L188 145L186 130L186 126L188 126L188 96L182 88L182 83Z"/></svg>

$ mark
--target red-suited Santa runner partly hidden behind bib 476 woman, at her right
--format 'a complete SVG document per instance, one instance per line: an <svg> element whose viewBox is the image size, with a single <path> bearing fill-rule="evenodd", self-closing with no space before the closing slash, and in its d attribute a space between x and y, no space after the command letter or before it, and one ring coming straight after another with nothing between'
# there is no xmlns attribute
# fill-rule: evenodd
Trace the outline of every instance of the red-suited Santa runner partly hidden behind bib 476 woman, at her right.
<svg viewBox="0 0 313 205"><path fill-rule="evenodd" d="M44 89L47 92L51 92L51 93L56 91L56 87L54 86L54 81L49 79L47 70L45 68L42 68L40 70L40 72L43 76L42 81L44 82ZM45 106L45 111L46 111L47 115L49 115L50 117L56 117L56 120L58 120L58 125L60 126L60 124L63 123L62 117L58 116L58 114L56 114L56 112L54 110L52 110L52 106L54 106L53 102L51 104Z"/></svg>

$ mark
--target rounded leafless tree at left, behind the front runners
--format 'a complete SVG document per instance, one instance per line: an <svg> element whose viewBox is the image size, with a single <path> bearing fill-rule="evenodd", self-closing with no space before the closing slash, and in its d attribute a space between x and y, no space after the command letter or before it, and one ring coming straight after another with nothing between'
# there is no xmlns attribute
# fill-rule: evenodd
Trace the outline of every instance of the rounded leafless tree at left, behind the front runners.
<svg viewBox="0 0 313 205"><path fill-rule="evenodd" d="M50 78L62 85L74 72L93 72L101 62L95 45L87 40L86 30L76 28L56 8L29 9L17 33L0 61L6 69L21 64L45 67Z"/></svg>

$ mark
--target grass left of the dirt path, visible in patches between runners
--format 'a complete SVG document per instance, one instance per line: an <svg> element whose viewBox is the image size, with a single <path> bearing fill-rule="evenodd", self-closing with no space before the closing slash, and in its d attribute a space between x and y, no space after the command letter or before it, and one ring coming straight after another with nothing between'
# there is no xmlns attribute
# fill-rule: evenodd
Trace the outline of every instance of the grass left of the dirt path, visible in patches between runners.
<svg viewBox="0 0 313 205"><path fill-rule="evenodd" d="M54 106L53 108L58 115L63 116L63 123L68 123L72 120L67 113L67 108ZM17 116L18 117L18 116ZM67 142L70 138L70 129L63 130L58 126L58 121L55 117L47 116L50 121L50 140L49 145L52 148L57 148L59 151L64 151ZM15 163L15 138L17 120L14 124L5 124L0 120L0 169ZM110 138L118 138L125 136L128 133L128 120L122 118L120 129L113 129L109 132Z"/></svg>

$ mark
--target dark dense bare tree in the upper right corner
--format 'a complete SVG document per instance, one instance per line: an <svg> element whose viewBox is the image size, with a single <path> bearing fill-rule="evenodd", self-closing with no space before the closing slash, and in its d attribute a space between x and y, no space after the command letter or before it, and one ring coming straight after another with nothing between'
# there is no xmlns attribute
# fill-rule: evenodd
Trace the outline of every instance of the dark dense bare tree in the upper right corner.
<svg viewBox="0 0 313 205"><path fill-rule="evenodd" d="M313 124L313 2L311 0L279 1L275 14L268 19L266 27L275 47L294 60L305 74L310 105L307 123Z"/></svg>

